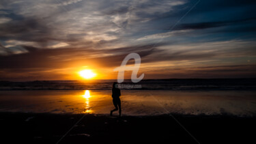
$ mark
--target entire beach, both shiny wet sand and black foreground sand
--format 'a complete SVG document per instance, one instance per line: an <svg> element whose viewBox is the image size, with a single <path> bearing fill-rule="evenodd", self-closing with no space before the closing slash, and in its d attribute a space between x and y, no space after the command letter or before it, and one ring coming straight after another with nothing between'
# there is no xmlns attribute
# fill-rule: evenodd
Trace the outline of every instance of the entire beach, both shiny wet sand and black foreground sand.
<svg viewBox="0 0 256 144"><path fill-rule="evenodd" d="M255 141L255 91L122 91L122 117L88 92L0 91L0 143Z"/></svg>

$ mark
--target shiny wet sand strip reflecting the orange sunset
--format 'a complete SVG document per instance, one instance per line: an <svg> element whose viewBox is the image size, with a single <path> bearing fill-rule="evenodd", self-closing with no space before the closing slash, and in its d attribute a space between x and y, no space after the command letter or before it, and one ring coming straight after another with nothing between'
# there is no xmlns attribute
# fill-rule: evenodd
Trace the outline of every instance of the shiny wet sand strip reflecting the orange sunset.
<svg viewBox="0 0 256 144"><path fill-rule="evenodd" d="M256 115L255 91L123 90L120 98L126 116ZM111 109L111 90L0 91L0 112L109 115Z"/></svg>

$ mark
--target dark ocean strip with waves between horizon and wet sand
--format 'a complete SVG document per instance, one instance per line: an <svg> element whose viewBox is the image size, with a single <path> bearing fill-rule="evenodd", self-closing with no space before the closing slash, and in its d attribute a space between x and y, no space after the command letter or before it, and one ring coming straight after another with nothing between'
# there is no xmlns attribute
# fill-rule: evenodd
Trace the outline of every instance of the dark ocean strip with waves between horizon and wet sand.
<svg viewBox="0 0 256 144"><path fill-rule="evenodd" d="M116 80L85 81L0 81L0 90L108 90ZM256 78L145 79L125 80L127 90L256 90Z"/></svg>

